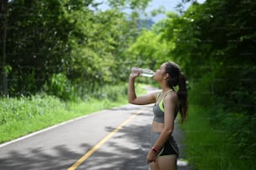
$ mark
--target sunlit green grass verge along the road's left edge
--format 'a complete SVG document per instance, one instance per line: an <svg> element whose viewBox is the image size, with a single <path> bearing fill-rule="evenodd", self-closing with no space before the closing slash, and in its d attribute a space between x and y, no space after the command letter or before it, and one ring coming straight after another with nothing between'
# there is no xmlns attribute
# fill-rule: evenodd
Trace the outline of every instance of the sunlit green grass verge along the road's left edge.
<svg viewBox="0 0 256 170"><path fill-rule="evenodd" d="M138 85L139 93L144 93ZM58 97L38 94L33 97L0 98L0 143L22 137L60 122L103 109L128 104L127 87L105 87L90 99L64 102Z"/></svg>

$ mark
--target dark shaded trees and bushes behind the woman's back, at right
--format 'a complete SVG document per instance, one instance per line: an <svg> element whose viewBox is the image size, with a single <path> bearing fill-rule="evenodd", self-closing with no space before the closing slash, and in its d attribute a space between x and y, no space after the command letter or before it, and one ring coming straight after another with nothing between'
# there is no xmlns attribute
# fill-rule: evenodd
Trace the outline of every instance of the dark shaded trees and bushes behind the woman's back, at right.
<svg viewBox="0 0 256 170"><path fill-rule="evenodd" d="M186 72L190 103L204 109L210 128L227 132L225 143L236 146L228 152L247 161L256 149L255 9L253 1L194 2L162 28L176 42L170 55Z"/></svg>

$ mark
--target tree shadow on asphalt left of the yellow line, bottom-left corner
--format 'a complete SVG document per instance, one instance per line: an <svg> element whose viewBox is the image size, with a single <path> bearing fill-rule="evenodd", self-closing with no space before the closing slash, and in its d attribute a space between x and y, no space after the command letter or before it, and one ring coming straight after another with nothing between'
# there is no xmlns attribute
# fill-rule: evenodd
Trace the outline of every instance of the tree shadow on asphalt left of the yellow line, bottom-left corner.
<svg viewBox="0 0 256 170"><path fill-rule="evenodd" d="M64 145L54 148L56 155L44 153L41 148L28 149L28 153L12 152L8 157L0 159L0 169L25 170L25 169L67 169L70 159L79 158L78 153L67 149ZM29 156L28 156L29 155Z"/></svg>

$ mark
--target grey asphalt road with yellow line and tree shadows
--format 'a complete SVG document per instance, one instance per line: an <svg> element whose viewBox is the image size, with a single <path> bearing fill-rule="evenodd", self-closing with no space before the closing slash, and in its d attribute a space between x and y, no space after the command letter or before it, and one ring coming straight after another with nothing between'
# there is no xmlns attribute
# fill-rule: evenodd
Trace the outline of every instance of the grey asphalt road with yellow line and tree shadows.
<svg viewBox="0 0 256 170"><path fill-rule="evenodd" d="M147 170L151 107L115 107L3 143L0 169ZM182 150L182 132L178 126L174 131Z"/></svg>

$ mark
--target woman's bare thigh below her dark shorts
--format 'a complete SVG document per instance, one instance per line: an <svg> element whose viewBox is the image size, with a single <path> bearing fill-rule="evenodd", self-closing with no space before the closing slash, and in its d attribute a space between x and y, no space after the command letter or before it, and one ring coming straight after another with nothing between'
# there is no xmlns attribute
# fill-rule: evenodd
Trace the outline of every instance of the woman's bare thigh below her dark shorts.
<svg viewBox="0 0 256 170"><path fill-rule="evenodd" d="M177 155L169 155L157 158L159 170L177 170Z"/></svg>

